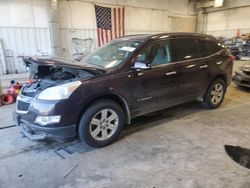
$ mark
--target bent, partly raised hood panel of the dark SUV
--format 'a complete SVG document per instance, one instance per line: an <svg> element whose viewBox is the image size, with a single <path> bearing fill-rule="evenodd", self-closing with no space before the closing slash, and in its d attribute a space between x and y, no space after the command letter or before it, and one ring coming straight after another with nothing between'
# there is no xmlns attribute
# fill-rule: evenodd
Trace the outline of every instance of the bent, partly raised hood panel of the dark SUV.
<svg viewBox="0 0 250 188"><path fill-rule="evenodd" d="M70 68L79 68L89 71L101 71L105 72L104 69L99 66L91 65L91 64L83 64L74 60L60 58L60 57L24 57L23 58L26 65L29 64L38 64L38 65L48 65L53 67L70 67Z"/></svg>

